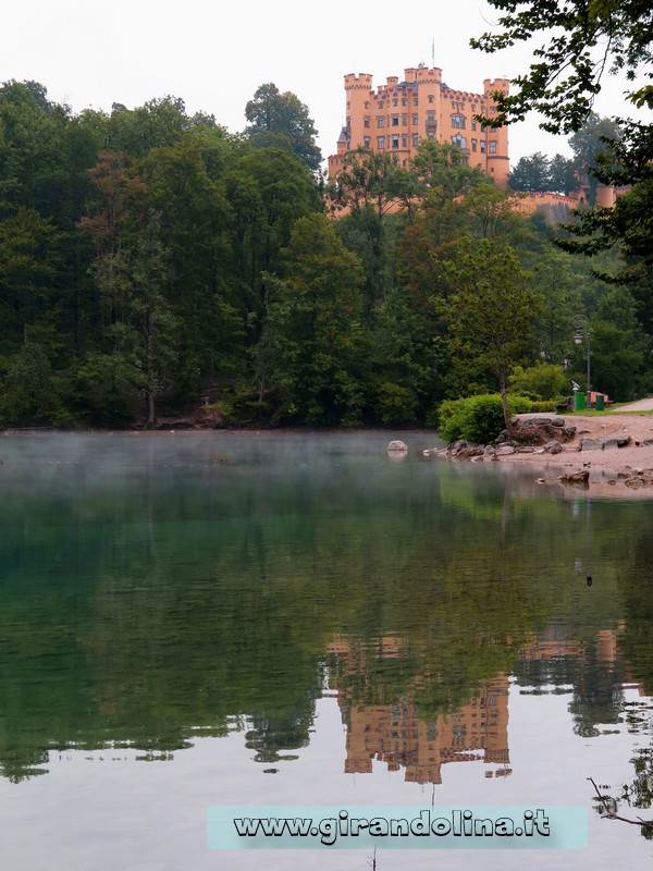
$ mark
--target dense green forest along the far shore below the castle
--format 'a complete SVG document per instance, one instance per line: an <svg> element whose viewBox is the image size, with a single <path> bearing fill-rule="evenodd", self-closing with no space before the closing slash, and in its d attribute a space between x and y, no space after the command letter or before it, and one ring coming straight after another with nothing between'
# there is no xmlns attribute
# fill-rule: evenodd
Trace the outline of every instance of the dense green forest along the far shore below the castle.
<svg viewBox="0 0 653 871"><path fill-rule="evenodd" d="M245 115L0 86L0 426L436 426L445 400L582 385L578 315L593 388L648 391L637 250L575 253L577 219L520 214L453 145L354 152L330 185L294 94L261 85ZM515 189L568 187L563 163L533 156Z"/></svg>

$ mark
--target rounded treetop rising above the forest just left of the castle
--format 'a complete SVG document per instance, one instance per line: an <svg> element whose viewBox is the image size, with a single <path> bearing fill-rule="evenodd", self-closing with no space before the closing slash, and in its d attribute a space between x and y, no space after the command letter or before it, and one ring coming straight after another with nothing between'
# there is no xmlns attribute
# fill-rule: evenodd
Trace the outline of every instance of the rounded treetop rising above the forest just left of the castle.
<svg viewBox="0 0 653 871"><path fill-rule="evenodd" d="M281 94L272 82L260 85L245 107L245 116L249 121L245 135L254 145L287 148L311 172L318 172L322 162L318 134L308 108L295 94Z"/></svg>

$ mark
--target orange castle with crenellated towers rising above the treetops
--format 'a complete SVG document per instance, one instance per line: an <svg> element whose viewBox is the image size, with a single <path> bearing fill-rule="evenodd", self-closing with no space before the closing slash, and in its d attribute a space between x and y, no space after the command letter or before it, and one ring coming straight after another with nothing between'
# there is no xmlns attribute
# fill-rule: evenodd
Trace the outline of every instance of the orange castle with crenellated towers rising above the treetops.
<svg viewBox="0 0 653 871"><path fill-rule="evenodd" d="M337 140L337 154L329 158L329 179L343 167L345 156L357 148L389 151L402 165L417 154L421 139L451 143L465 154L470 167L479 167L498 185L509 172L508 133L475 121L491 118L496 107L492 95L508 93L507 78L485 78L482 94L454 90L442 81L442 70L424 64L404 70L404 79L389 76L377 90L367 73L345 76L346 124Z"/></svg>

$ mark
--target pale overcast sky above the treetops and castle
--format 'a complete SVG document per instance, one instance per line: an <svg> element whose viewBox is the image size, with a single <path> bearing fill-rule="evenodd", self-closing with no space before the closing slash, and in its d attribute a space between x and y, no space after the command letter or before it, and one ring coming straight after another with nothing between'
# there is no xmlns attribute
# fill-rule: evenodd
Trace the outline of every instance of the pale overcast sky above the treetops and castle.
<svg viewBox="0 0 653 871"><path fill-rule="evenodd" d="M109 111L168 94L236 133L257 87L274 82L306 103L326 157L344 122L345 73L371 73L374 86L404 68L432 62L449 87L481 91L483 78L515 77L529 62L523 46L500 54L469 48L496 13L483 0L431 3L315 3L298 0L23 0L2 10L0 81L36 79L74 112ZM613 82L596 105L625 114ZM544 151L569 154L537 119L510 130L513 165Z"/></svg>

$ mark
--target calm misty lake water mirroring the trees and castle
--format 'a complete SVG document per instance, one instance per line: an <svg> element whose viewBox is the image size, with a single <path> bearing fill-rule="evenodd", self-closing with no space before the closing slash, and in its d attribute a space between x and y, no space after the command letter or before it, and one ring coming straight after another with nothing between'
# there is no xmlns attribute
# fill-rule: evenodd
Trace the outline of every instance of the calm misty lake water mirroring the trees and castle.
<svg viewBox="0 0 653 871"><path fill-rule="evenodd" d="M580 805L650 867L653 501L424 458L426 433L0 441L3 869L367 869L209 851L212 805ZM591 492L591 491L590 491Z"/></svg>

